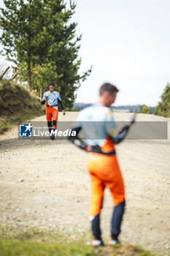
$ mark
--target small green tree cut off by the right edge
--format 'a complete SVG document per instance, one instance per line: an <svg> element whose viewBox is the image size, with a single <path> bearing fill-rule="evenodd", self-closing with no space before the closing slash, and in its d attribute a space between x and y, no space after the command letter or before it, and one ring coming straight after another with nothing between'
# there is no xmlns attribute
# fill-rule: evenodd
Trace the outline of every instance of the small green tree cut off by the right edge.
<svg viewBox="0 0 170 256"><path fill-rule="evenodd" d="M155 108L154 114L157 116L170 117L170 84L167 83L163 94L161 95L161 102Z"/></svg>

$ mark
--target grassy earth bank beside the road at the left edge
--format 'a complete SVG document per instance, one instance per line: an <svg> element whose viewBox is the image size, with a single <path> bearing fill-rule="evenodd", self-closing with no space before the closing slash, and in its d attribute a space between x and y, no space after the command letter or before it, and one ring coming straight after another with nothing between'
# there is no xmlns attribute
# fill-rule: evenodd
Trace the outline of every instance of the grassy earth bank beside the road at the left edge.
<svg viewBox="0 0 170 256"><path fill-rule="evenodd" d="M0 134L12 125L45 114L36 96L9 80L0 81L0 109Z"/></svg>

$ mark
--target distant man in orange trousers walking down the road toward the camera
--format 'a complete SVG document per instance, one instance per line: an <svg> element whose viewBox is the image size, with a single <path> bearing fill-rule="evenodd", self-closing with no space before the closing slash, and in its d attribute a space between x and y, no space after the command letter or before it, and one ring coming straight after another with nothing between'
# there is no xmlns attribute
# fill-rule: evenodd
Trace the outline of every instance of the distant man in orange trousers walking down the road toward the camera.
<svg viewBox="0 0 170 256"><path fill-rule="evenodd" d="M42 105L45 105L46 102L46 118L47 118L47 126L50 132L50 139L54 140L55 138L55 129L57 129L58 122L58 102L61 105L61 109L63 110L63 116L66 115L66 112L63 108L63 102L61 100L60 94L58 91L54 91L55 83L49 83L49 91L46 91L42 98ZM52 124L53 117L53 124Z"/></svg>

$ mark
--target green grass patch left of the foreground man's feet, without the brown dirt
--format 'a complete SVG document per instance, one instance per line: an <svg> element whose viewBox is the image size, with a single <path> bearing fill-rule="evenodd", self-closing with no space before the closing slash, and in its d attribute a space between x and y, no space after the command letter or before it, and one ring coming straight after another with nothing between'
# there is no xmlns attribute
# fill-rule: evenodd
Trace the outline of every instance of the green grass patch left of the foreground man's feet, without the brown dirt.
<svg viewBox="0 0 170 256"><path fill-rule="evenodd" d="M89 238L89 233L87 234ZM15 230L13 227L0 227L1 256L95 256L93 246L85 244L87 236L72 239L71 234L60 230L40 230L36 227Z"/></svg>

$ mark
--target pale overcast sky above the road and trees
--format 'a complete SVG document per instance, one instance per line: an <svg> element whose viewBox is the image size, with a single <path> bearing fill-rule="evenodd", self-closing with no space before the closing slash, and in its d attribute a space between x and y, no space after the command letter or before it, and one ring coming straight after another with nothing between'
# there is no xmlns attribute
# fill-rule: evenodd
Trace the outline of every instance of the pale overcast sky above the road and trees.
<svg viewBox="0 0 170 256"><path fill-rule="evenodd" d="M80 74L93 65L76 102L96 102L100 86L109 82L120 90L117 106L157 105L170 82L170 1L74 2L72 21L82 34Z"/></svg>

